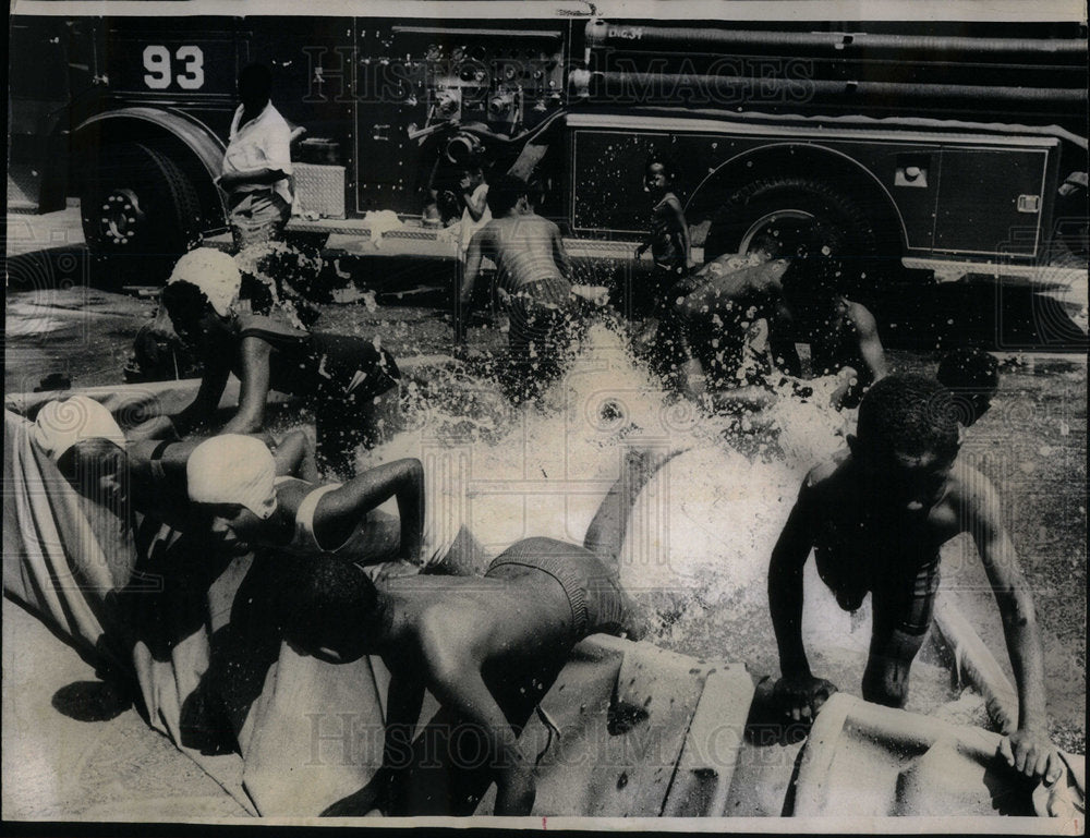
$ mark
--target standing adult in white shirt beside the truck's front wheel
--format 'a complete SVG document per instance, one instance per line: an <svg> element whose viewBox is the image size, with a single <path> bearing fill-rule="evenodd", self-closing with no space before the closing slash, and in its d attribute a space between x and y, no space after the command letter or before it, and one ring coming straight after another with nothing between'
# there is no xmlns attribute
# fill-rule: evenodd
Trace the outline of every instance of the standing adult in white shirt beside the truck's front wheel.
<svg viewBox="0 0 1090 838"><path fill-rule="evenodd" d="M217 183L228 195L235 250L280 239L291 215L291 129L272 107L272 73L249 64L239 73L242 105Z"/></svg>

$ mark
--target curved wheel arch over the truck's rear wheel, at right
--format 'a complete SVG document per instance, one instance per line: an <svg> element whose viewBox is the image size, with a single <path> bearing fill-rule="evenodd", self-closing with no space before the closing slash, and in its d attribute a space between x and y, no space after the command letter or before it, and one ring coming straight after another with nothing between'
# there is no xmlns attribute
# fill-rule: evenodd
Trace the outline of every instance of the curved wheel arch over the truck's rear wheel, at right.
<svg viewBox="0 0 1090 838"><path fill-rule="evenodd" d="M764 147L728 160L697 187L686 207L686 218L690 227L706 234L717 210L736 190L764 178L791 177L828 181L864 207L874 226L889 239L896 236L901 247L907 245L905 224L877 179L840 153L810 144Z"/></svg>

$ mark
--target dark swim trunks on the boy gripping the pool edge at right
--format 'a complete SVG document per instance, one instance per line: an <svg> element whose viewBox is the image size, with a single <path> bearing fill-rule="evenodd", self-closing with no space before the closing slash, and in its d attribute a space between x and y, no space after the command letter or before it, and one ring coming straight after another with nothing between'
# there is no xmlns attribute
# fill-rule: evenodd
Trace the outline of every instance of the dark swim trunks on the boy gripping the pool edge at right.
<svg viewBox="0 0 1090 838"><path fill-rule="evenodd" d="M814 547L818 574L836 595L846 611L857 610L871 593L875 633L898 629L919 636L931 627L935 594L941 579L938 550L899 549L900 558L879 560L863 555L858 546L848 546L827 524ZM912 556L925 556L923 561Z"/></svg>

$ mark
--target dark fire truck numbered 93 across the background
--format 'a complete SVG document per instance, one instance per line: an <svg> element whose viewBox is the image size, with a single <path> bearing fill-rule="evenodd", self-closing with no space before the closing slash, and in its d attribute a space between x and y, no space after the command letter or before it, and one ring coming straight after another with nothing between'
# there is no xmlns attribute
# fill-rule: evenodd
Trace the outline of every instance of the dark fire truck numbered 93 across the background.
<svg viewBox="0 0 1090 838"><path fill-rule="evenodd" d="M400 234L434 236L475 157L526 178L566 235L633 242L654 153L674 163L705 259L815 221L851 253L896 264L1032 266L1059 239L1085 247L1081 12L1044 3L1015 21L1001 3L989 11L1012 20L969 21L954 4L948 20L918 22L876 0L869 21L800 20L812 7L791 2L775 20L748 16L772 5L667 20L665 5L633 3L502 7L511 19L473 2L441 16L404 2L397 17L19 3L9 206L78 197L92 252L154 272L226 229L213 181L235 78L264 62L298 126L295 232L363 234L391 210Z"/></svg>

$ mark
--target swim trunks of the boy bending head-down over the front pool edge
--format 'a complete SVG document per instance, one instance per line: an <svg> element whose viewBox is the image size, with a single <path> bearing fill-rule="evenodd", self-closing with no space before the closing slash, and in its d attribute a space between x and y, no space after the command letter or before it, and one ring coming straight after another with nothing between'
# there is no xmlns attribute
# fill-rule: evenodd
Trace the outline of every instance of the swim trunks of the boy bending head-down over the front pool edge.
<svg viewBox="0 0 1090 838"><path fill-rule="evenodd" d="M590 634L619 634L630 630L631 602L617 574L593 552L556 538L524 538L493 559L486 576L501 568L531 568L556 580L571 606L572 643Z"/></svg>

